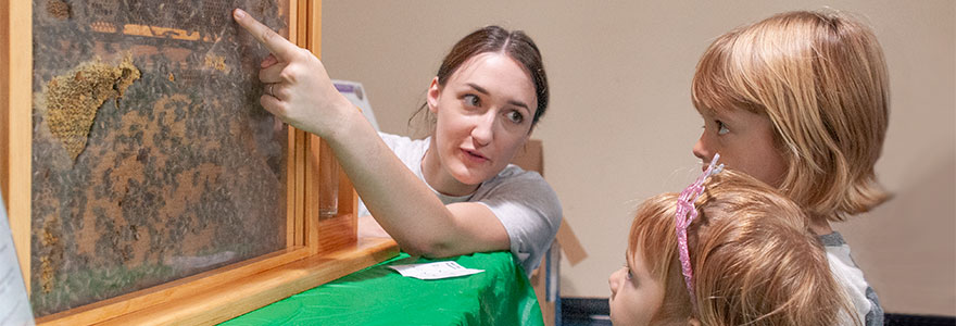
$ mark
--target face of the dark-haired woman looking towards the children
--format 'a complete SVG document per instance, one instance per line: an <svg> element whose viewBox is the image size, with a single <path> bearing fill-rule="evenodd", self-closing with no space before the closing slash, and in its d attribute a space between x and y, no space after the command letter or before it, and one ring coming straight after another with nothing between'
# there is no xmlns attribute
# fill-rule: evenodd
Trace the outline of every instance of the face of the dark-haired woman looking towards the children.
<svg viewBox="0 0 956 326"><path fill-rule="evenodd" d="M433 141L443 175L465 188L498 175L530 136L536 108L531 77L505 54L471 57L444 86L433 79L428 110L437 117Z"/></svg>

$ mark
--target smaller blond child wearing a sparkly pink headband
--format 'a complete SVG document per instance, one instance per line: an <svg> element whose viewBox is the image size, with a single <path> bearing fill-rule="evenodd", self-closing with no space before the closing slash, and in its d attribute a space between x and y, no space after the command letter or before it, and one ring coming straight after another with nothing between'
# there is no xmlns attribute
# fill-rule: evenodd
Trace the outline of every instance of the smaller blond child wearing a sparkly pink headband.
<svg viewBox="0 0 956 326"><path fill-rule="evenodd" d="M612 322L858 324L803 210L747 175L712 171L638 209L627 265L609 279Z"/></svg>

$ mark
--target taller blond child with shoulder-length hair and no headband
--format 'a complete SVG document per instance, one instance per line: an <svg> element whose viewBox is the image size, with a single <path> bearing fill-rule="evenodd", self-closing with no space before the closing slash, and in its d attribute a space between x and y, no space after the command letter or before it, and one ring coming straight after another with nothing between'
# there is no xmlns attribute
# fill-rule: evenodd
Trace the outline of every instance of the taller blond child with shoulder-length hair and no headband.
<svg viewBox="0 0 956 326"><path fill-rule="evenodd" d="M832 222L889 195L877 183L889 77L872 30L836 12L787 12L718 37L697 64L693 102L704 131L693 153L777 188L807 214L857 318L883 310Z"/></svg>

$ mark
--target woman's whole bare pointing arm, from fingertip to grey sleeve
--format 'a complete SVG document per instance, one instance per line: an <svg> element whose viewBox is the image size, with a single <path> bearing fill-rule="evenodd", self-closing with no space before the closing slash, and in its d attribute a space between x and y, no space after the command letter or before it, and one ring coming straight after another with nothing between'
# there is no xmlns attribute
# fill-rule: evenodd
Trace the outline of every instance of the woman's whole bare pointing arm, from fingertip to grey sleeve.
<svg viewBox="0 0 956 326"><path fill-rule="evenodd" d="M488 206L442 204L336 90L317 58L241 10L234 16L275 58L260 72L263 83L275 84L273 95L260 99L263 108L329 143L369 212L403 250L440 258L510 248L507 231Z"/></svg>

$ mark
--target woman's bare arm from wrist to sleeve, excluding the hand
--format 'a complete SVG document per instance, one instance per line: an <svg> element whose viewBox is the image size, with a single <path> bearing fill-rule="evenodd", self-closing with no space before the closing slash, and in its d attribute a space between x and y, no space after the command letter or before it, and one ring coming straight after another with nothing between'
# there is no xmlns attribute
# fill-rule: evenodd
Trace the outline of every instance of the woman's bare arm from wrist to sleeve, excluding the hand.
<svg viewBox="0 0 956 326"><path fill-rule="evenodd" d="M426 256L506 250L507 233L488 206L444 205L385 145L364 116L349 106L329 146L368 211L402 249Z"/></svg>

